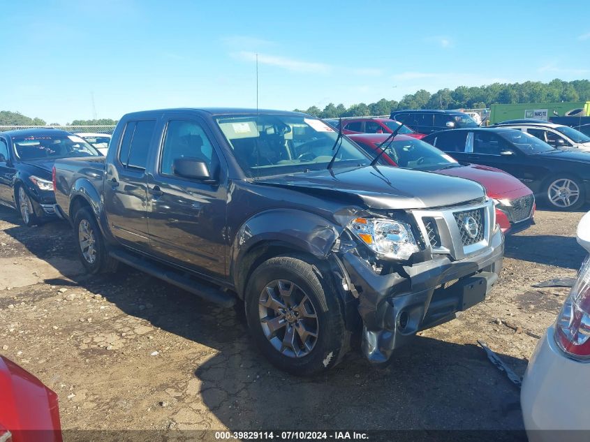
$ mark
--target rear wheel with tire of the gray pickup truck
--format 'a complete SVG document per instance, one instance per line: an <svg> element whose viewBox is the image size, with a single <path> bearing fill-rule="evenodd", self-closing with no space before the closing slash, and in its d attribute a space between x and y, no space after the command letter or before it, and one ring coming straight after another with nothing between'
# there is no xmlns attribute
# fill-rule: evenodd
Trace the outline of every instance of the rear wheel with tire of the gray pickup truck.
<svg viewBox="0 0 590 442"><path fill-rule="evenodd" d="M75 214L74 237L76 250L89 273L111 272L117 267L117 260L108 255L104 238L98 228L94 215L87 207Z"/></svg>

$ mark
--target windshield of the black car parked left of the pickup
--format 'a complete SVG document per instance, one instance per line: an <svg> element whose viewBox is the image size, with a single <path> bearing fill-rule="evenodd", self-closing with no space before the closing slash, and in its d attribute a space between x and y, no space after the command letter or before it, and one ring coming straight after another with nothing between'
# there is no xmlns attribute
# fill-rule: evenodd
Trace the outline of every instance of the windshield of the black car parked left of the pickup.
<svg viewBox="0 0 590 442"><path fill-rule="evenodd" d="M16 156L24 161L101 155L77 135L25 135L12 140Z"/></svg>

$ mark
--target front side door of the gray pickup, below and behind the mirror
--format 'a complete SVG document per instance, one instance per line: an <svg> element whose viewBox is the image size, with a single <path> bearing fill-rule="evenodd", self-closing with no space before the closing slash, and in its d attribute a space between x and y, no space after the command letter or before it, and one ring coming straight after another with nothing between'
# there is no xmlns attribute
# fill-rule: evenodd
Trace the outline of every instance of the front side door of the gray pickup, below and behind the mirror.
<svg viewBox="0 0 590 442"><path fill-rule="evenodd" d="M204 161L214 182L175 173L176 159ZM225 276L227 167L206 124L171 114L149 170L148 225L152 253L211 277Z"/></svg>

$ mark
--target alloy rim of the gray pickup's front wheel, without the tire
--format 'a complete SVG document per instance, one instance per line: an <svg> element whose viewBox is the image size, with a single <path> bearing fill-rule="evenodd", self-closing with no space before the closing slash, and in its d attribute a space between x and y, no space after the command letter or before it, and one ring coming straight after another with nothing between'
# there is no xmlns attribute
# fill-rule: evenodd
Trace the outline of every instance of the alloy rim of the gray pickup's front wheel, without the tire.
<svg viewBox="0 0 590 442"><path fill-rule="evenodd" d="M265 337L283 355L302 358L316 346L316 307L292 281L277 279L268 283L260 293L258 313Z"/></svg>

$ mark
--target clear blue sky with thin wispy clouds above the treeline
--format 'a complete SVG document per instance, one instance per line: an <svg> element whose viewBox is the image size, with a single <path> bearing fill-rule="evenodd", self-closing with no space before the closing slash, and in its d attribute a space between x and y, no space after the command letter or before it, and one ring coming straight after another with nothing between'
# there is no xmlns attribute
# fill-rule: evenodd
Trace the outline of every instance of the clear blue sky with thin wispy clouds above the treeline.
<svg viewBox="0 0 590 442"><path fill-rule="evenodd" d="M4 1L0 110L65 124L590 78L587 1Z"/></svg>

